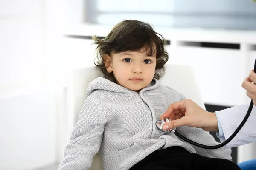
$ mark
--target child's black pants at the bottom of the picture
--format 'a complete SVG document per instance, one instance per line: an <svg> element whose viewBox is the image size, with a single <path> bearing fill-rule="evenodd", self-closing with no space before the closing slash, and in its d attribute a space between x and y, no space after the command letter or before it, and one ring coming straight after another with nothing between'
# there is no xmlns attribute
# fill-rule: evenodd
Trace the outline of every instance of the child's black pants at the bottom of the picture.
<svg viewBox="0 0 256 170"><path fill-rule="evenodd" d="M241 170L230 160L208 158L175 146L156 150L130 170Z"/></svg>

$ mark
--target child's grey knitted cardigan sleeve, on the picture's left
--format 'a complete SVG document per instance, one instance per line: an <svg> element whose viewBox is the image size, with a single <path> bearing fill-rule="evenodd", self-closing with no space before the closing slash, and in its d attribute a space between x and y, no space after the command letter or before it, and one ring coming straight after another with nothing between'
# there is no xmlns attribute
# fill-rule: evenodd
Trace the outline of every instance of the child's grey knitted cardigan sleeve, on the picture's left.
<svg viewBox="0 0 256 170"><path fill-rule="evenodd" d="M88 96L73 128L70 142L64 149L59 170L88 170L93 156L98 153L104 125L107 122L96 99Z"/></svg>

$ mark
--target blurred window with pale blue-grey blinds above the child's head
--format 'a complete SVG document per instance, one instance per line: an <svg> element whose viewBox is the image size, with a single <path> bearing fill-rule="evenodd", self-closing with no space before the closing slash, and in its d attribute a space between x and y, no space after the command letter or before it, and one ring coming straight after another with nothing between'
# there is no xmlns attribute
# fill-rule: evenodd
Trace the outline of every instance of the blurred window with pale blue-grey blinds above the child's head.
<svg viewBox="0 0 256 170"><path fill-rule="evenodd" d="M114 25L123 19L162 27L256 29L253 0L86 0L84 22Z"/></svg>

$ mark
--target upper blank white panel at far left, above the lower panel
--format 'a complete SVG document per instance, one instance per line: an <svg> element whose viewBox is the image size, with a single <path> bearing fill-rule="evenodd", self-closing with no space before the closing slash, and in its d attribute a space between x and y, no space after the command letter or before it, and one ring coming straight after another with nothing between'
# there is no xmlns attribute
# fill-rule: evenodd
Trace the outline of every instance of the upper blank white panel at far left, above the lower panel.
<svg viewBox="0 0 256 170"><path fill-rule="evenodd" d="M0 0L0 90L44 81L42 2Z"/></svg>

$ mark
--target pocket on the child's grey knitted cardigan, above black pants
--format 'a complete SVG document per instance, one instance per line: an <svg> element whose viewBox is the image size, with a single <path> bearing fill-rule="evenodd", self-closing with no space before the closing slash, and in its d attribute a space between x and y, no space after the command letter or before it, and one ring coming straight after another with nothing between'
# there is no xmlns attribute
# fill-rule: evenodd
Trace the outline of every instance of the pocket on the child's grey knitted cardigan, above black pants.
<svg viewBox="0 0 256 170"><path fill-rule="evenodd" d="M120 168L123 168L131 161L134 161L134 159L136 159L143 150L143 146L136 143L130 147L119 150L118 153L121 158Z"/></svg>

